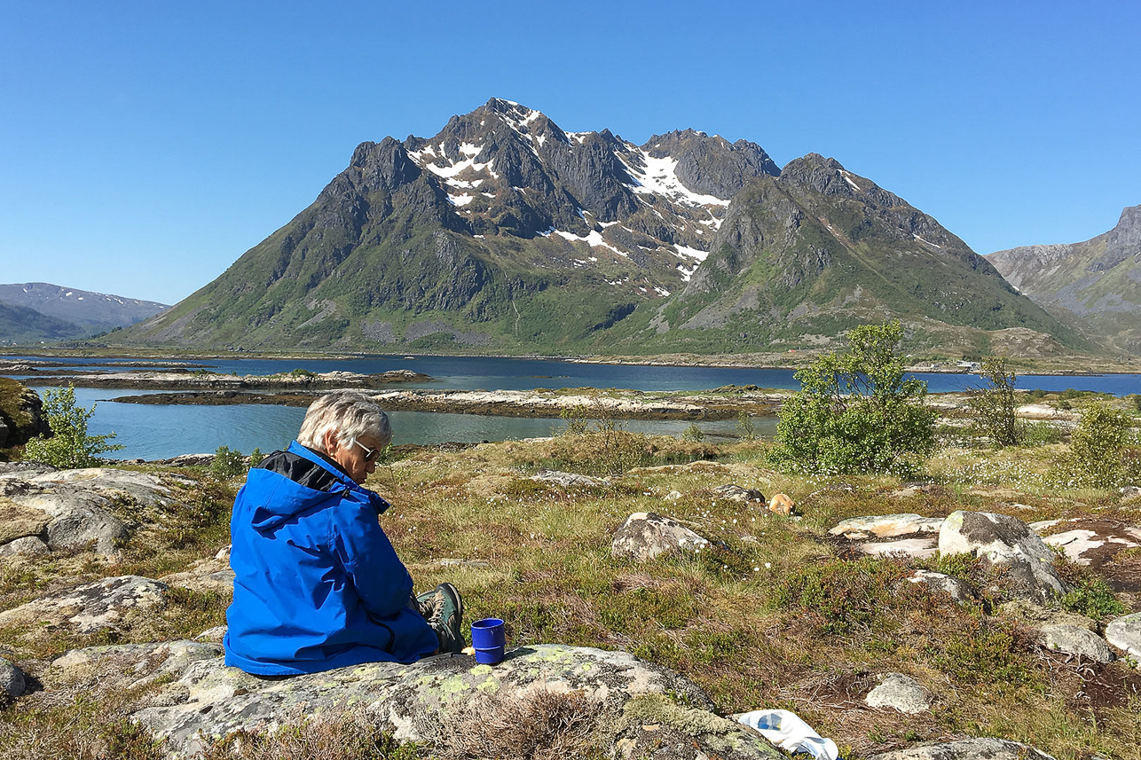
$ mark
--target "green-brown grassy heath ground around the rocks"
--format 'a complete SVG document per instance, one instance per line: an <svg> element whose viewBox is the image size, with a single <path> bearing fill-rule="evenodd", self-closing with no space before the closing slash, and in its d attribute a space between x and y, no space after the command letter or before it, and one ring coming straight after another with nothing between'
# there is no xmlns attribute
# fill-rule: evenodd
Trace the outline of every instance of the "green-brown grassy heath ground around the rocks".
<svg viewBox="0 0 1141 760"><path fill-rule="evenodd" d="M853 516L944 516L956 509L1013 510L1026 522L1097 515L1138 524L1139 502L1051 484L1045 472L1062 451L1058 445L945 450L929 463L940 485L909 496L893 495L899 484L891 478L845 477L853 486L848 492L780 475L766 468L763 448L649 440L604 429L458 453L426 450L379 468L369 485L396 504L382 524L418 587L454 582L468 616L503 617L512 645L628 649L688 676L726 713L794 710L847 747L844 757L921 739L993 735L1067 760L1089 751L1141 758L1141 703L1127 695L1127 685L1141 679L1125 665L1091 669L1037 648L1023 621L992 616L997 599L963 608L900 583L916 566L963 574L984 587L994 582L977 566L851 558L825 534ZM718 461L633 469L703 458ZM613 485L567 491L526 478L541 467L610 474ZM804 517L788 520L719 498L713 488L726 483L788 493ZM234 485L183 493L168 514L143 516L145 526L154 520L173 529L144 527L113 564L82 553L9 564L0 576L0 606L68 581L127 573L154 577L212 556L227 541L225 506ZM666 499L672 491L681 496ZM699 555L646 565L613 559L610 536L636 511L669 514L715 543ZM443 568L442 557L486 565ZM1141 556L1125 552L1119 561L1136 565ZM1079 568L1069 572L1081 575ZM1135 596L1119 599L1141 608ZM226 604L224 597L179 593L161 615L129 620L113 637L46 631L26 639L9 629L0 631L0 641L6 656L34 672L31 657L68 647L194 636L222 622ZM885 671L904 671L934 693L932 711L904 717L863 706L875 673ZM1110 685L1106 704L1093 706L1079 694L1091 679ZM126 730L106 725L115 714L106 704L118 697L100 698L60 708L25 697L2 713L17 731L0 731L7 736L0 744L18 745L24 735L51 746L48 738L74 733L76 725L94 723L113 735Z"/></svg>

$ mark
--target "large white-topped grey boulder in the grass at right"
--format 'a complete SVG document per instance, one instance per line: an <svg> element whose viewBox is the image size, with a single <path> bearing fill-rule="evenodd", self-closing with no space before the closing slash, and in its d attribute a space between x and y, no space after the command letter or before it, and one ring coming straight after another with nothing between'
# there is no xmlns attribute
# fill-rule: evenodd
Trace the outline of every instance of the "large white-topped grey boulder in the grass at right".
<svg viewBox="0 0 1141 760"><path fill-rule="evenodd" d="M1010 592L1035 604L1053 604L1071 591L1053 568L1053 551L1014 517L996 512L952 512L939 528L939 553L969 553L1006 568Z"/></svg>

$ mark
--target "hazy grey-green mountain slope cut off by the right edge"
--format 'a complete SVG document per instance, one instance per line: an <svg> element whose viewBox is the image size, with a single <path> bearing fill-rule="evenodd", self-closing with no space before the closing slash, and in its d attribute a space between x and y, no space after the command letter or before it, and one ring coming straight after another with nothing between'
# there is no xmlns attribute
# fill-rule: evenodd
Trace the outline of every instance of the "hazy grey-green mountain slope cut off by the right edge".
<svg viewBox="0 0 1141 760"><path fill-rule="evenodd" d="M1141 355L1141 205L1083 243L1023 245L987 257L1059 318L1118 350Z"/></svg>

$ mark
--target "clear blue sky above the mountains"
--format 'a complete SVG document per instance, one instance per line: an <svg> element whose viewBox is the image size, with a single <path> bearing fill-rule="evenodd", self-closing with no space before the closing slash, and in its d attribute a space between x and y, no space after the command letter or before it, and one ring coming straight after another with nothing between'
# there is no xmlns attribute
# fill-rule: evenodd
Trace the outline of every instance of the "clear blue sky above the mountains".
<svg viewBox="0 0 1141 760"><path fill-rule="evenodd" d="M1141 203L1141 3L58 2L0 17L0 282L165 302L503 97L834 156L979 253Z"/></svg>

